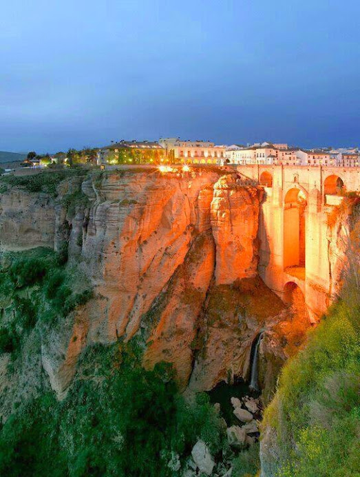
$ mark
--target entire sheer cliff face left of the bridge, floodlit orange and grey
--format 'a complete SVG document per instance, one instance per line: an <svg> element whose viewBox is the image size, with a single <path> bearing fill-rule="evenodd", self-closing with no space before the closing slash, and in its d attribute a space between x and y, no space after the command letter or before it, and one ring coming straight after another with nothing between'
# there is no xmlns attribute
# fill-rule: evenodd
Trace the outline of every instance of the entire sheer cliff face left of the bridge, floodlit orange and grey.
<svg viewBox="0 0 360 477"><path fill-rule="evenodd" d="M61 199L76 190L89 201L70 216ZM14 207L15 196L35 210L32 216ZM247 376L253 339L279 321L274 317L282 310L257 277L261 200L257 187L209 169L84 177L62 183L57 199L20 190L3 194L3 247L8 230L25 226L34 230L26 236L28 247L59 250L68 240L70 263L81 263L94 284L96 298L76 312L72 328L52 330L41 343L43 368L58 395L70 385L85 346L134 334L147 341L145 366L173 363L182 388L211 389ZM21 234L11 235L13 247L23 245ZM264 334L268 356L275 342Z"/></svg>

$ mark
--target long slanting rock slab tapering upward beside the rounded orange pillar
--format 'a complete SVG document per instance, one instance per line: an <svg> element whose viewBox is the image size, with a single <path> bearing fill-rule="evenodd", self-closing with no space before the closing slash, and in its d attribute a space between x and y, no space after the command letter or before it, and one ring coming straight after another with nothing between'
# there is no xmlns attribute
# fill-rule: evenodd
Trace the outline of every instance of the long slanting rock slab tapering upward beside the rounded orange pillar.
<svg viewBox="0 0 360 477"><path fill-rule="evenodd" d="M213 277L215 245L211 232L193 240L184 263L169 282L166 301L151 313L158 318L152 323L149 346L144 354L145 367L159 361L173 363L181 389L187 385L193 364L191 343L196 336L196 323Z"/></svg>

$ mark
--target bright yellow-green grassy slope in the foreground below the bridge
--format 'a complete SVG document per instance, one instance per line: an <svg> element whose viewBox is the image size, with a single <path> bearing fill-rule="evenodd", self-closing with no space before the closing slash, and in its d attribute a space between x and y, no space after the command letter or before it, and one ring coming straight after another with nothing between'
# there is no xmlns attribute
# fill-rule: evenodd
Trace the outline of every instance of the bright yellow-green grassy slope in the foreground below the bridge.
<svg viewBox="0 0 360 477"><path fill-rule="evenodd" d="M347 295L284 367L266 409L280 453L273 475L359 477L359 396L360 305Z"/></svg>

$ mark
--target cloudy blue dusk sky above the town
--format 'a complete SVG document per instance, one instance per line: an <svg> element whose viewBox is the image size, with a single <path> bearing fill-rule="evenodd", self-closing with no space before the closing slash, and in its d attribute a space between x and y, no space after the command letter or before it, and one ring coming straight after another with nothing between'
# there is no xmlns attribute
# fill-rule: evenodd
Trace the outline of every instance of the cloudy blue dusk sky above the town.
<svg viewBox="0 0 360 477"><path fill-rule="evenodd" d="M0 3L0 150L360 145L359 0Z"/></svg>

